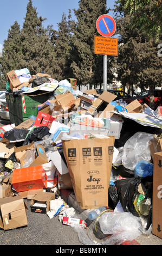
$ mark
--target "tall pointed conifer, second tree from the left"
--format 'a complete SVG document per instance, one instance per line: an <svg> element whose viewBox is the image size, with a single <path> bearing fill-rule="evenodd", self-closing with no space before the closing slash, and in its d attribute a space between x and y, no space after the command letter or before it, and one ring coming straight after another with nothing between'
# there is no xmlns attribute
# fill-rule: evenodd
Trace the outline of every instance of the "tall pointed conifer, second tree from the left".
<svg viewBox="0 0 162 256"><path fill-rule="evenodd" d="M28 68L31 75L39 72L50 73L53 59L53 45L50 42L48 29L42 26L42 17L37 16L36 8L29 0L27 13L21 31L22 54L20 68Z"/></svg>

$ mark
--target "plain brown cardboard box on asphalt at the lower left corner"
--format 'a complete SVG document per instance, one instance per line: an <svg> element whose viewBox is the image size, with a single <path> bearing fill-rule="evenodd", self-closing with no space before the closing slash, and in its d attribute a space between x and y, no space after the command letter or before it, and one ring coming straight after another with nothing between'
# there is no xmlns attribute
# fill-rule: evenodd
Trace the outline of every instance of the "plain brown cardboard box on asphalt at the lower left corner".
<svg viewBox="0 0 162 256"><path fill-rule="evenodd" d="M21 196L0 199L0 227L4 230L28 225L27 205Z"/></svg>

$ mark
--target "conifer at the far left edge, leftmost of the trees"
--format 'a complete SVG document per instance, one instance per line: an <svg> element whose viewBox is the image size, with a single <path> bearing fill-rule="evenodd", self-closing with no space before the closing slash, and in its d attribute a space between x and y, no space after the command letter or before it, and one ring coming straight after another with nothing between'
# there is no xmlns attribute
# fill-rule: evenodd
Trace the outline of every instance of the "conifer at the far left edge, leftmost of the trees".
<svg viewBox="0 0 162 256"><path fill-rule="evenodd" d="M19 69L19 56L21 52L20 25L15 21L8 31L8 38L4 40L3 56L0 58L0 88L5 89L6 74L11 70Z"/></svg>

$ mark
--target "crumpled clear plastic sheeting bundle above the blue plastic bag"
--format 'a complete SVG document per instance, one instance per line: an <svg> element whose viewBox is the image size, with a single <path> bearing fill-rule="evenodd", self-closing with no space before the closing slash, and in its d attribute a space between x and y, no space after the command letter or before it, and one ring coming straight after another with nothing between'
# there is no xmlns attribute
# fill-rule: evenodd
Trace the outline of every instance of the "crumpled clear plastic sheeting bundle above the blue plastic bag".
<svg viewBox="0 0 162 256"><path fill-rule="evenodd" d="M145 132L137 132L127 140L124 145L122 164L130 170L134 170L138 162L151 160L149 143L154 135Z"/></svg>

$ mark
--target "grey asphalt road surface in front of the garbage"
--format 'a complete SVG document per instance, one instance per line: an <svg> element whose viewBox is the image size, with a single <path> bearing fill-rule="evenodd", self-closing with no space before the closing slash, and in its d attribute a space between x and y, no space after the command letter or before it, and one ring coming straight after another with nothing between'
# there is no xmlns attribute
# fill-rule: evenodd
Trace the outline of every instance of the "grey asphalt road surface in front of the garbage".
<svg viewBox="0 0 162 256"><path fill-rule="evenodd" d="M10 121L0 119L0 126L7 124ZM57 216L50 219L46 214L31 212L31 200L25 199L25 202L28 206L28 225L12 230L0 229L0 245L83 246L72 227L63 225ZM135 240L140 245L162 245L162 239L152 234L140 235Z"/></svg>

